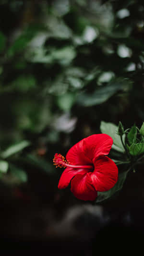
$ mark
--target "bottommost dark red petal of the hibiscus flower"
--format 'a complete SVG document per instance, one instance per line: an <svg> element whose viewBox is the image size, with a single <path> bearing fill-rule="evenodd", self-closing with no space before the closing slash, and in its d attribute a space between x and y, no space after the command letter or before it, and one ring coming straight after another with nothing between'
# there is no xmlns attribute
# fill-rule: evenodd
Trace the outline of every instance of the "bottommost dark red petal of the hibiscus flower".
<svg viewBox="0 0 144 256"><path fill-rule="evenodd" d="M71 191L75 197L81 200L93 201L97 197L95 188L90 184L88 173L77 174L71 182Z"/></svg>

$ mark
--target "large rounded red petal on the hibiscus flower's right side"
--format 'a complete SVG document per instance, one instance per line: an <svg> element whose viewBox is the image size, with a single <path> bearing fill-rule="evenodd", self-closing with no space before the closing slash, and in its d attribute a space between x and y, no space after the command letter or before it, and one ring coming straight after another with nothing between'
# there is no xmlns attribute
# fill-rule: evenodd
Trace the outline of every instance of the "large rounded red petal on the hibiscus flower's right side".
<svg viewBox="0 0 144 256"><path fill-rule="evenodd" d="M100 157L94 161L95 170L88 173L96 191L104 192L111 189L118 181L118 168L108 157Z"/></svg>

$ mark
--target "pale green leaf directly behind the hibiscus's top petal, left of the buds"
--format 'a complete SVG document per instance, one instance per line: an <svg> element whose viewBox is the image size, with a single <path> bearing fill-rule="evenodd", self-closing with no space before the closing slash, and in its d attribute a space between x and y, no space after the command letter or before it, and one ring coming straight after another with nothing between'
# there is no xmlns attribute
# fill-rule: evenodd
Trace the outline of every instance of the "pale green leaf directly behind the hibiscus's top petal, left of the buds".
<svg viewBox="0 0 144 256"><path fill-rule="evenodd" d="M111 122L104 122L102 121L100 123L100 130L103 134L108 134L110 137L113 139L113 145L112 148L119 151L119 152L124 152L124 148L122 146L121 140L120 140L120 135L117 134L118 132L118 126ZM125 134L122 135L122 139L124 141L125 139Z"/></svg>

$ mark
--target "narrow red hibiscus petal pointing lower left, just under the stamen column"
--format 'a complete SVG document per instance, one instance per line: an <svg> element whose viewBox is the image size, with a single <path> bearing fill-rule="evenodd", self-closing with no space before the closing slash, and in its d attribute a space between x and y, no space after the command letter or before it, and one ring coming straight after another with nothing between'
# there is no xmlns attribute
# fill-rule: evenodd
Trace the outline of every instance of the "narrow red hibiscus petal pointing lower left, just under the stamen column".
<svg viewBox="0 0 144 256"><path fill-rule="evenodd" d="M75 168L70 168L67 167L61 174L60 177L60 181L58 184L58 188L62 189L62 188L66 188L70 181L72 180L72 178L76 175L76 174L85 174L86 172L88 172L89 169L75 169Z"/></svg>

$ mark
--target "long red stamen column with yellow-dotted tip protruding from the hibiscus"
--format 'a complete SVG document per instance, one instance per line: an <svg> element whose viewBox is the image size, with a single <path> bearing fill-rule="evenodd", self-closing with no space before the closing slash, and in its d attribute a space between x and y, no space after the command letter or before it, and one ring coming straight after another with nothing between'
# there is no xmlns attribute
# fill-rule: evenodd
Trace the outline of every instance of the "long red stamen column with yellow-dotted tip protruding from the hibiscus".
<svg viewBox="0 0 144 256"><path fill-rule="evenodd" d="M72 168L86 168L86 169L93 169L92 165L72 165L68 160L66 160L62 155L56 153L53 158L53 164L56 168L65 168L65 167L72 167Z"/></svg>

